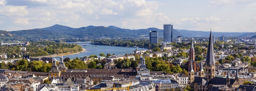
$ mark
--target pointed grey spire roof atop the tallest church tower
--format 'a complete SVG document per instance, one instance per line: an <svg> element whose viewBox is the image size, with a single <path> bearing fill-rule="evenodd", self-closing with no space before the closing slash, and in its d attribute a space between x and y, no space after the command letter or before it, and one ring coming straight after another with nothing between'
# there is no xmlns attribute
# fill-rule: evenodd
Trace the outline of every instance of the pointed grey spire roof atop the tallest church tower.
<svg viewBox="0 0 256 91"><path fill-rule="evenodd" d="M207 49L207 55L206 55L206 65L215 65L215 60L214 60L214 50L213 50L213 40L211 39L211 33L210 33L210 38L209 38L209 44L208 44L208 49Z"/></svg>

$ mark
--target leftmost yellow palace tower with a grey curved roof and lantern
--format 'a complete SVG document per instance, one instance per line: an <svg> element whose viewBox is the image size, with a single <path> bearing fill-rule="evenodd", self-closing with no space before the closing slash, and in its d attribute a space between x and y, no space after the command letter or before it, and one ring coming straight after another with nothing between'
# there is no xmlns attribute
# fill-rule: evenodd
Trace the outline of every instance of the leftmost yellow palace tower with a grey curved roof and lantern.
<svg viewBox="0 0 256 91"><path fill-rule="evenodd" d="M50 70L50 72L48 72L48 77L59 77L61 74L61 71L58 69L57 67L57 59L53 59L52 60L52 69Z"/></svg>

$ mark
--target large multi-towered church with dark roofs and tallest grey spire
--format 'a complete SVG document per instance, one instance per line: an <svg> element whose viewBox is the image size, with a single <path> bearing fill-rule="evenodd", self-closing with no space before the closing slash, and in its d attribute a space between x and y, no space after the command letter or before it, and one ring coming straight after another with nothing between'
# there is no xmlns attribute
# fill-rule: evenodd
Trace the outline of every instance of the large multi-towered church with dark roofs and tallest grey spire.
<svg viewBox="0 0 256 91"><path fill-rule="evenodd" d="M189 85L191 88L194 88L194 91L215 91L214 88L219 88L219 86L224 86L226 89L237 88L239 87L239 77L238 72L235 76L235 79L231 79L229 71L226 78L215 77L215 59L214 59L214 50L212 36L210 33L208 49L206 54L205 62L205 74L202 69L202 61L200 69L198 70L198 77L195 77L195 71L192 68L192 63L190 63L189 69ZM204 76L205 75L205 76ZM217 90L216 90L217 91Z"/></svg>

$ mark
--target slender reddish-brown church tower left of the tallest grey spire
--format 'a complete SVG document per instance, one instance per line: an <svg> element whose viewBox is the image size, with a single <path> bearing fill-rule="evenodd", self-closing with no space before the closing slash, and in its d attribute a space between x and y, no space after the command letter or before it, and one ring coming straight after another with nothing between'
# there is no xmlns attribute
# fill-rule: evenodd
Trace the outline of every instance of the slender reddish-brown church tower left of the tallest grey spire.
<svg viewBox="0 0 256 91"><path fill-rule="evenodd" d="M194 49L194 45L193 45L193 37L191 39L191 46L189 49L189 61L188 61L188 70L190 70L190 63L192 62L192 68L194 71L198 70L198 67L196 66L196 62L195 62L195 49Z"/></svg>

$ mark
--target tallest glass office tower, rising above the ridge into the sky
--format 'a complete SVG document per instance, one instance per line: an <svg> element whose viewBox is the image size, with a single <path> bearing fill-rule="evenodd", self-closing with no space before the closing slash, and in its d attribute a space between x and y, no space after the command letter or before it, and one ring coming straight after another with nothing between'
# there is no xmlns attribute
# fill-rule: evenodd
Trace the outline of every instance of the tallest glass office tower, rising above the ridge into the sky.
<svg viewBox="0 0 256 91"><path fill-rule="evenodd" d="M173 42L173 24L164 24L164 42Z"/></svg>

